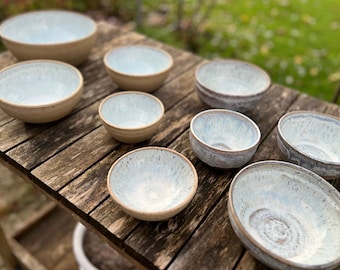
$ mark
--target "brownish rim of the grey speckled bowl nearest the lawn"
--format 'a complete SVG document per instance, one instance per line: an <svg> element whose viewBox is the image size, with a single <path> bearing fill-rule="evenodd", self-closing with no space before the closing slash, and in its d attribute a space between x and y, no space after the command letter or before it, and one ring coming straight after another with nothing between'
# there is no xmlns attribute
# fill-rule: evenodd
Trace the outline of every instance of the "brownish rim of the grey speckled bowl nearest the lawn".
<svg viewBox="0 0 340 270"><path fill-rule="evenodd" d="M218 91L216 91L214 89L211 89L211 88L207 87L200 80L200 78L198 76L198 72L202 68L204 68L205 66L211 65L211 64L215 64L215 63L231 63L231 64L234 64L234 65L247 65L247 66L250 66L250 67L254 68L255 70L257 70L259 73L264 75L264 77L266 79L266 87L264 87L261 91L257 91L255 93L251 93L251 94L244 94L244 95L233 95L233 94L230 94L230 93L221 93L221 92L218 92ZM250 62L247 62L247 61L243 61L243 60L239 60L239 59L215 59L215 60L204 61L203 63L199 64L196 67L196 69L195 69L195 81L196 81L196 83L199 86L204 88L203 90L212 92L212 93L220 95L220 96L241 97L241 98L242 97L252 97L252 96L261 95L261 94L265 93L267 90L269 90L271 85L272 85L271 78L270 78L269 73L267 71L265 71L263 68L255 65L253 63L250 63Z"/></svg>

